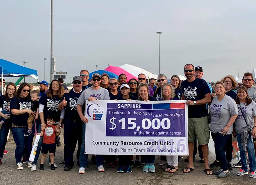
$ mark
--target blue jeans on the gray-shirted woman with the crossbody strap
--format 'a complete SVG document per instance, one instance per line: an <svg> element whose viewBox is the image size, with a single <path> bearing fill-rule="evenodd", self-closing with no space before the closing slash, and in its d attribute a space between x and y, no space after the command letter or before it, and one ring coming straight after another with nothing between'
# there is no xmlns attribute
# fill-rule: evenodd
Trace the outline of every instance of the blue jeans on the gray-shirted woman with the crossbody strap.
<svg viewBox="0 0 256 185"><path fill-rule="evenodd" d="M247 157L246 157L246 151L243 150L241 136L242 136L242 134L236 134L237 143L238 143L238 146L239 146L239 153L240 153L240 156L241 156L241 164L242 164L241 169L247 172L248 171ZM250 161L250 164L249 164L250 171L254 172L255 168L256 168L256 159L255 159L254 145L253 145L253 142L251 141L251 134L249 134L247 151L248 151L248 158L249 158L249 161Z"/></svg>

